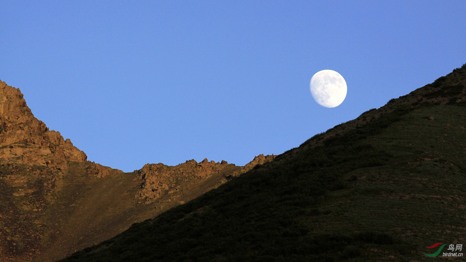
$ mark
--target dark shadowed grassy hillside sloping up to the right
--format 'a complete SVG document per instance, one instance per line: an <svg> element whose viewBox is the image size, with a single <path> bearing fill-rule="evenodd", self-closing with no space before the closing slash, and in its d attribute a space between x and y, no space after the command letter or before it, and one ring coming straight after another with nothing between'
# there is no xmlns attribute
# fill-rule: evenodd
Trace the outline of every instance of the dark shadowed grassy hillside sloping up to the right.
<svg viewBox="0 0 466 262"><path fill-rule="evenodd" d="M466 65L62 262L442 259L420 252L466 240L465 83Z"/></svg>

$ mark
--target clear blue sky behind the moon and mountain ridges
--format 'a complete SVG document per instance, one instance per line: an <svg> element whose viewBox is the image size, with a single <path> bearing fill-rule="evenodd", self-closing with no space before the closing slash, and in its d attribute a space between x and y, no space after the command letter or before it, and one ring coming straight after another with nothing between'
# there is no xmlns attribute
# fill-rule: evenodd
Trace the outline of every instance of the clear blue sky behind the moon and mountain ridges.
<svg viewBox="0 0 466 262"><path fill-rule="evenodd" d="M466 62L466 2L6 1L0 79L88 160L244 165ZM313 100L332 69L341 105Z"/></svg>

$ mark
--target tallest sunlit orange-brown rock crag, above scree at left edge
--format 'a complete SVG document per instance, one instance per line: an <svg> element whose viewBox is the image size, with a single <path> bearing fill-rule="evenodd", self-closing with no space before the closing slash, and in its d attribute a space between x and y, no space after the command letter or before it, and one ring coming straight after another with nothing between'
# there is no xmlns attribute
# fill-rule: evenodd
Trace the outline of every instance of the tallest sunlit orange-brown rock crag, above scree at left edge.
<svg viewBox="0 0 466 262"><path fill-rule="evenodd" d="M0 161L65 170L67 161L86 160L69 139L34 117L19 89L0 81Z"/></svg>

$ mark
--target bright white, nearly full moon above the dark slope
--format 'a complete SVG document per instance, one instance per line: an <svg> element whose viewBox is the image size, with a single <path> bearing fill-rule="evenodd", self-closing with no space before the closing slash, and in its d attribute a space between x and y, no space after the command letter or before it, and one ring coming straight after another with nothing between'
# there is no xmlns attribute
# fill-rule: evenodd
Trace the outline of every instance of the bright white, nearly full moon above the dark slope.
<svg viewBox="0 0 466 262"><path fill-rule="evenodd" d="M311 78L311 94L315 102L325 107L336 107L346 97L347 86L342 75L334 70L322 70Z"/></svg>

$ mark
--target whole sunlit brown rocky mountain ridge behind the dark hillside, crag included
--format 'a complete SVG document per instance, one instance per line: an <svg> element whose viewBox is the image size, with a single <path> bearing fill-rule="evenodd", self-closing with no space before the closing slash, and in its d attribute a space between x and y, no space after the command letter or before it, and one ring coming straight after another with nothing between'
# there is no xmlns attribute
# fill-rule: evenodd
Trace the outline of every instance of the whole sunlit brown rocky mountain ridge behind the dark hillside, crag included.
<svg viewBox="0 0 466 262"><path fill-rule="evenodd" d="M0 261L56 261L192 200L274 159L245 166L204 159L135 172L87 161L0 81Z"/></svg>

